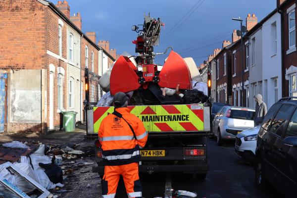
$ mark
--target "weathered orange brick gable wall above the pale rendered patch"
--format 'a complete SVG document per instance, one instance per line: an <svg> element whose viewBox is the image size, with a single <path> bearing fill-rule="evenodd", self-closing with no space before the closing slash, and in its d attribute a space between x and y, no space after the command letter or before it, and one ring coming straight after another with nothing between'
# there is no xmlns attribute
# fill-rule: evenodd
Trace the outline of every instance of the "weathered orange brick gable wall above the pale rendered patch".
<svg viewBox="0 0 297 198"><path fill-rule="evenodd" d="M46 65L46 6L36 0L0 1L0 68Z"/></svg>

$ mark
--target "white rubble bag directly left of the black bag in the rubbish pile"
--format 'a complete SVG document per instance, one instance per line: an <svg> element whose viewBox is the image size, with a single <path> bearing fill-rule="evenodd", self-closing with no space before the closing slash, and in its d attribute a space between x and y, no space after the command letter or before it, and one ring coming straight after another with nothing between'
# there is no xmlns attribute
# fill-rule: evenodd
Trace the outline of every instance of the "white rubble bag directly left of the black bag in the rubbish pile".
<svg viewBox="0 0 297 198"><path fill-rule="evenodd" d="M39 163L49 164L51 163L51 157L47 155L39 155L39 154L31 154L30 155L32 165L34 168L34 173L37 178L37 182L46 188L54 189L55 187L63 187L64 185L61 183L53 184L50 180L48 175L45 172L45 169L39 166ZM30 160L29 157L27 158L27 161Z"/></svg>

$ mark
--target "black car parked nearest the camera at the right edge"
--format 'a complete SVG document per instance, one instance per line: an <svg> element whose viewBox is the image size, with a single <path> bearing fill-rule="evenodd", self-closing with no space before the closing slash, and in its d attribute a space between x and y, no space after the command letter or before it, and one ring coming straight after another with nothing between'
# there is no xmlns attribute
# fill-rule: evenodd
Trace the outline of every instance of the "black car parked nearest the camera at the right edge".
<svg viewBox="0 0 297 198"><path fill-rule="evenodd" d="M264 117L257 138L256 186L267 182L297 197L297 97L280 99Z"/></svg>

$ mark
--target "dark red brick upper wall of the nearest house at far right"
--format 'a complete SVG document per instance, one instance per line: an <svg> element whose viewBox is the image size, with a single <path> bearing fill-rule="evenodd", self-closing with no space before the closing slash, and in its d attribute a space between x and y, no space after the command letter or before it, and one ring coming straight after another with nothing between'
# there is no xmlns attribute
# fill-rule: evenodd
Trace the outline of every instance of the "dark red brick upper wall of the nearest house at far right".
<svg viewBox="0 0 297 198"><path fill-rule="evenodd" d="M291 2L287 3L283 8L283 74L286 74L286 69L288 69L291 65L297 66L297 51L294 51L292 53L289 53L287 55L287 50L289 49L289 16L287 14L287 9L291 7L294 3L296 3L295 0L291 0ZM296 15L296 8L295 8L295 15ZM296 17L295 17L296 18ZM297 20L295 20L297 22ZM296 24L297 25L297 24ZM296 31L297 33L297 31ZM297 38L297 35L296 35ZM283 97L288 97L290 95L289 93L289 81L285 79L285 76L283 76Z"/></svg>

